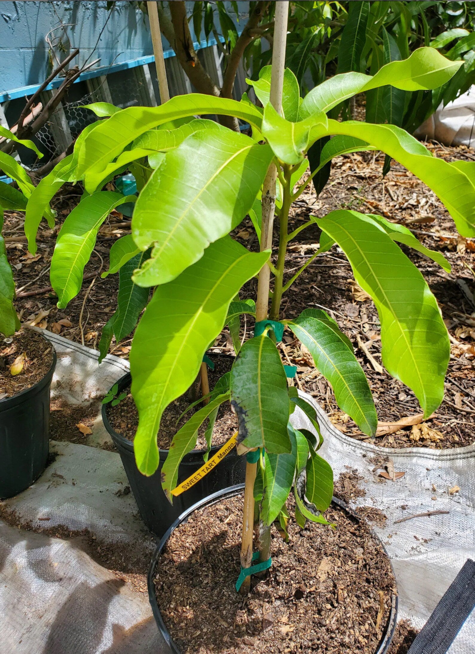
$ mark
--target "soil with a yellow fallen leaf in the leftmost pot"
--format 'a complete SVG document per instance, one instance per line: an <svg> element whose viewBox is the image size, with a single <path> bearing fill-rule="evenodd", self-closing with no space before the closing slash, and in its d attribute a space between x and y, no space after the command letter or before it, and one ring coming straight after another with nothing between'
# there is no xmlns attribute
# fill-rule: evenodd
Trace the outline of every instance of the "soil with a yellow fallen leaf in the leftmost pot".
<svg viewBox="0 0 475 654"><path fill-rule="evenodd" d="M0 400L37 384L48 373L52 363L50 341L31 329L24 328L0 341Z"/></svg>

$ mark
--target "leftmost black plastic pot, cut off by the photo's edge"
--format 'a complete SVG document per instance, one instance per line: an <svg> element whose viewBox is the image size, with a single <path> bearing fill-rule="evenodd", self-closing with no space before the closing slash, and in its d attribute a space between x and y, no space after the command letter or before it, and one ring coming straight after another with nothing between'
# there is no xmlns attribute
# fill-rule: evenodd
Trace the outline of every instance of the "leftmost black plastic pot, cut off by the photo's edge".
<svg viewBox="0 0 475 654"><path fill-rule="evenodd" d="M53 346L52 346L53 347ZM50 370L31 388L0 400L0 499L17 495L36 481L50 451Z"/></svg>

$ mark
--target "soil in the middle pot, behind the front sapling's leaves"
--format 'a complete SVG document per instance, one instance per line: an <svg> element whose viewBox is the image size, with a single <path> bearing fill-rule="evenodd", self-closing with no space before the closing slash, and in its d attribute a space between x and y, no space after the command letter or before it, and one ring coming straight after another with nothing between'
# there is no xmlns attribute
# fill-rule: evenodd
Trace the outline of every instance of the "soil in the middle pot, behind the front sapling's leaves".
<svg viewBox="0 0 475 654"><path fill-rule="evenodd" d="M210 390L213 390L218 380L221 379L225 373L231 370L234 359L232 356L223 356L220 354L210 354L210 359L214 363L214 370L208 368L208 383ZM196 390L199 392L198 396L200 396L201 392L199 391L199 388ZM157 436L159 449L169 449L172 438L176 432L178 432L178 430L194 413L203 408L203 404L200 402L180 419L180 416L184 411L186 411L186 409L188 409L191 402L191 396L189 391L187 391L165 409L161 418L160 430ZM116 404L114 407L109 402L106 406L106 415L110 422L110 426L112 426L114 431L125 436L125 438L130 441L133 441L135 432L137 432L137 427L139 426L139 412L137 411L137 407L135 406L135 402L133 401L130 392L128 392L127 397L125 397L122 402L119 402L119 404ZM199 428L195 449L206 449L205 431L206 428L208 428L208 424L208 419L206 419ZM214 423L212 436L213 447L223 445L236 431L237 418L233 411L231 411L231 404L229 402L224 402L218 409L218 415L216 417L216 422Z"/></svg>

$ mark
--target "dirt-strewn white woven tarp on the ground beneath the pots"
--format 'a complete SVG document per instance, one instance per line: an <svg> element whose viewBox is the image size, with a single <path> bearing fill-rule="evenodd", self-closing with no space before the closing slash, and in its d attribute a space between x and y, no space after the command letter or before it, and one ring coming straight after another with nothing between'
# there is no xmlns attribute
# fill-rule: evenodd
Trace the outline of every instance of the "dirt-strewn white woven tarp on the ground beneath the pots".
<svg viewBox="0 0 475 654"><path fill-rule="evenodd" d="M69 402L103 396L127 370L108 356L97 366L97 353L46 333L54 342L58 365L53 394ZM59 383L58 383L59 382ZM399 617L421 628L468 557L475 559L475 445L460 449L382 449L339 432L316 407L325 443L322 455L335 477L356 468L364 477L366 496L360 506L375 506L387 515L376 528L393 561L399 587ZM296 426L307 426L299 411ZM96 428L94 430L96 432ZM101 426L97 423L97 432ZM93 434L91 445L99 440ZM3 506L14 509L20 524L87 528L109 543L152 547L130 495L120 496L126 482L120 457L88 445L52 443L57 458L31 488ZM397 481L382 481L373 472L374 456L389 456ZM61 475L61 476L58 476ZM433 486L436 490L433 490ZM459 486L457 494L449 488ZM432 500L432 497L436 500ZM402 509L406 506L406 509ZM434 509L443 515L395 521ZM49 521L39 521L49 517ZM146 593L120 582L73 542L15 529L0 522L0 654L161 654L163 651ZM450 654L472 654L472 615Z"/></svg>

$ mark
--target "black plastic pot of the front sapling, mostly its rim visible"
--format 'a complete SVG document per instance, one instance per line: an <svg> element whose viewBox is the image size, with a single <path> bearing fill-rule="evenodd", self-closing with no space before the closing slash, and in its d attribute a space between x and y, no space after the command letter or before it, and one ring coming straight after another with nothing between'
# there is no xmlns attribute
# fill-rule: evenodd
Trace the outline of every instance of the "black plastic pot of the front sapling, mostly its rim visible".
<svg viewBox="0 0 475 654"><path fill-rule="evenodd" d="M150 604L152 606L152 611L154 613L154 618L157 623L157 627L159 629L159 632L163 638L163 649L160 651L169 652L170 654L182 654L182 651L178 649L177 645L173 642L167 627L165 627L165 623L163 622L163 618L161 617L160 609L157 604L157 598L155 594L155 587L154 587L154 577L156 575L156 570L157 567L159 567L159 559L161 556L161 552L163 551L163 548L167 544L167 541L169 540L172 532L180 525L183 523L186 523L188 520L189 515L193 513L193 511L197 511L198 509L201 509L205 506L210 506L211 504L216 504L216 502L220 502L220 500L223 500L225 498L233 497L235 495L238 495L244 490L244 484L240 483L237 484L231 488L223 489L223 490L218 490L218 492L215 492L214 494L210 495L209 497L206 497L205 499L201 500L200 502L197 502L194 506L189 507L178 517L174 523L169 527L167 532L163 535L161 538L161 541L159 542L157 549L154 553L154 557L152 558L152 562L150 563L150 568L148 570L148 579L147 579L147 585L148 585L148 598L150 600ZM358 521L361 520L361 518L354 512L352 509L349 509L344 502L341 502L338 500L338 498L333 498L333 504L336 504L338 507L344 509L349 515L352 515L353 518L357 519ZM377 538L377 536L376 536ZM382 544L382 543L381 543ZM384 545L382 544L382 548L385 550ZM392 564L391 564L391 570L393 570ZM394 574L394 570L393 570ZM384 631L381 637L381 640L378 644L378 647L374 654L386 654L387 651L389 650L389 646L391 645L391 640L393 640L394 636L394 630L396 627L397 623L397 594L393 594L392 596L392 601L391 601L391 611L389 612L389 617L387 619L387 622L384 627ZM350 625L349 625L350 626Z"/></svg>

